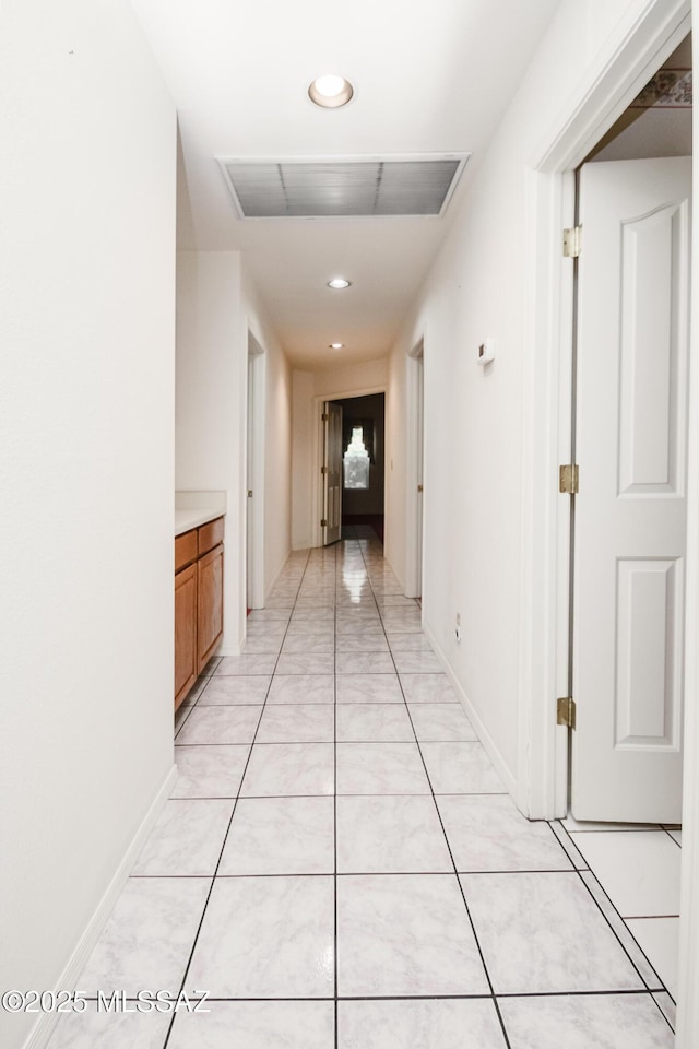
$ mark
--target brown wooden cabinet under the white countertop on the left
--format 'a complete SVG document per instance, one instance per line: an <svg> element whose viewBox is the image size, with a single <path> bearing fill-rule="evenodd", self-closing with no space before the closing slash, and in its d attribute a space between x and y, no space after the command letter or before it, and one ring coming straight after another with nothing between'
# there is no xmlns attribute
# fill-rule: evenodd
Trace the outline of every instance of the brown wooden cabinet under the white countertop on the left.
<svg viewBox="0 0 699 1049"><path fill-rule="evenodd" d="M175 540L175 709L223 634L223 535L218 517Z"/></svg>

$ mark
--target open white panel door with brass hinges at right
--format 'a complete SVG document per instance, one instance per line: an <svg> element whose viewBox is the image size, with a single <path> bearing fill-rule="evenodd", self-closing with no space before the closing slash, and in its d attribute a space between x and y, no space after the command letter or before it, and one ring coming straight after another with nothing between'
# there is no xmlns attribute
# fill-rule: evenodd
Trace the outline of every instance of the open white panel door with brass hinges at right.
<svg viewBox="0 0 699 1049"><path fill-rule="evenodd" d="M679 822L691 161L580 181L571 802Z"/></svg>

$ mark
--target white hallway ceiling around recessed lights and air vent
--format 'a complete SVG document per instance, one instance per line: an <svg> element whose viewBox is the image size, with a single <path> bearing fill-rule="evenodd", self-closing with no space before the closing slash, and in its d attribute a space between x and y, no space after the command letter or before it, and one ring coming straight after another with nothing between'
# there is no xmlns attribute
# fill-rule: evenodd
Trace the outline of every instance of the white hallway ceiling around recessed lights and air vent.
<svg viewBox="0 0 699 1049"><path fill-rule="evenodd" d="M387 354L558 0L132 3L178 109L179 246L245 254L295 367ZM309 101L325 72L346 107ZM215 161L447 152L473 155L442 219L242 221Z"/></svg>

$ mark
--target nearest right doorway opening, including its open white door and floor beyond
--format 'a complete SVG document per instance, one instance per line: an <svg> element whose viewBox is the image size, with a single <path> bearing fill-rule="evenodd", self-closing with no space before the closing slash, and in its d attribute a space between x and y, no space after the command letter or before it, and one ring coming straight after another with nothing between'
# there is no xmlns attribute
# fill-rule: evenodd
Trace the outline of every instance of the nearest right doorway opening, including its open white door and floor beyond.
<svg viewBox="0 0 699 1049"><path fill-rule="evenodd" d="M686 988L695 981L687 959L696 946L685 946L679 968L677 958L679 931L689 920L691 860L678 848L683 837L675 824L683 801L687 552L680 504L691 486L685 425L691 98L682 90L691 49L689 39L677 47L675 37L673 45L593 149L578 153L572 134L561 135L569 153L557 170L565 174L549 184L560 193L562 225L581 227L580 258L562 263L570 267L560 271L562 294L552 296L561 303L557 319L571 347L559 370L556 458L579 467L579 482L569 499L556 495L559 553L550 593L562 614L552 680L558 682L556 695L566 698L558 700L560 728L549 768L558 777L555 814L565 816L571 806L577 818L569 816L566 825L587 861L599 847L602 887L670 994L684 999L688 1016ZM670 39L661 49L667 55ZM661 176L670 179L676 167L684 168L682 184L668 184L663 196ZM606 276L603 262L609 266ZM574 293L573 267L580 279ZM673 504L677 514L666 527ZM696 702L691 694L688 699ZM696 747L692 756L696 764ZM665 763L655 779L655 766L643 764L651 762ZM686 788L684 802L694 818ZM638 884L637 872L651 865L652 849L662 853L659 896L643 909L625 894Z"/></svg>

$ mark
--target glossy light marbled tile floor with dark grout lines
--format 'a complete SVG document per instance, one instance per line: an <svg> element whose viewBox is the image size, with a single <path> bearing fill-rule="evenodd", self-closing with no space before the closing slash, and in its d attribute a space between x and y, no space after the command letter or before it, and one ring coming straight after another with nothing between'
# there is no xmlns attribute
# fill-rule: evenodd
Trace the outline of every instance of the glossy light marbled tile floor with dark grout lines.
<svg viewBox="0 0 699 1049"><path fill-rule="evenodd" d="M672 1047L679 836L524 820L372 534L294 554L180 709L51 1049Z"/></svg>

